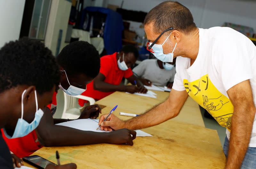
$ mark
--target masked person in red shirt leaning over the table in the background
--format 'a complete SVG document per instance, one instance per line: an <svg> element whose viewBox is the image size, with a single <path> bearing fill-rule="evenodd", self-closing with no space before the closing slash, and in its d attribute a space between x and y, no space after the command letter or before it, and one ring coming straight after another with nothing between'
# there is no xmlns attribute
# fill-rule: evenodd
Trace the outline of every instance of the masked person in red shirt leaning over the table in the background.
<svg viewBox="0 0 256 169"><path fill-rule="evenodd" d="M116 52L112 55L101 57L100 73L87 85L87 90L82 95L99 100L116 91L146 93L148 90L133 75L131 70L138 56L138 49L132 45L127 45L119 53ZM120 85L123 77L132 85ZM137 85L135 85L134 81L136 81ZM80 106L84 106L87 101L79 99L78 102Z"/></svg>

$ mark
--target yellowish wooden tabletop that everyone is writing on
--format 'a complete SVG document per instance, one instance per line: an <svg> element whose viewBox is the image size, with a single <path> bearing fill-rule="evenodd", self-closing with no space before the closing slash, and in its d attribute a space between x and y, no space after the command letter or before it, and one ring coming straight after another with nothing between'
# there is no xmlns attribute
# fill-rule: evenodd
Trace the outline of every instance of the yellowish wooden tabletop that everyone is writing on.
<svg viewBox="0 0 256 169"><path fill-rule="evenodd" d="M97 103L107 106L102 109L103 113L108 113L115 105L118 105L115 114L120 111L140 114L151 108L152 104L159 104L168 97L168 93L157 91L156 93L159 97L152 99L115 92L97 101ZM112 102L111 99L115 102ZM136 101L136 104L134 104L134 101ZM188 109L190 111L194 106L194 103L188 100L183 109L190 107ZM194 108L196 110L196 107ZM196 112L194 113L196 114ZM129 118L126 116L118 117L122 119ZM95 144L43 147L33 155L42 156L56 163L55 151L58 150L62 164L74 162L81 169L224 168L226 158L217 131L206 129L202 125L193 125L191 124L192 122L190 124L186 123L187 121L189 122L190 120L173 119L160 125L143 129L143 131L153 136L137 137L133 146Z"/></svg>

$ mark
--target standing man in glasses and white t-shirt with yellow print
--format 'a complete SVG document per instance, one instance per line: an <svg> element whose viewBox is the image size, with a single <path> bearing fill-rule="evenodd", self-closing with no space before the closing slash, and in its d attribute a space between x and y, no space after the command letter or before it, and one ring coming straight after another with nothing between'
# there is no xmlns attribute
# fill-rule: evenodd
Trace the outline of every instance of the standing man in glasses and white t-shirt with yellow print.
<svg viewBox="0 0 256 169"><path fill-rule="evenodd" d="M227 129L223 148L227 157L225 168L256 168L254 44L228 27L197 28L188 8L173 1L149 11L144 29L148 50L158 59L172 62L177 57L170 96L145 114L127 121L112 114L110 121L102 122L106 117L102 115L101 129L157 125L177 116L190 96Z"/></svg>

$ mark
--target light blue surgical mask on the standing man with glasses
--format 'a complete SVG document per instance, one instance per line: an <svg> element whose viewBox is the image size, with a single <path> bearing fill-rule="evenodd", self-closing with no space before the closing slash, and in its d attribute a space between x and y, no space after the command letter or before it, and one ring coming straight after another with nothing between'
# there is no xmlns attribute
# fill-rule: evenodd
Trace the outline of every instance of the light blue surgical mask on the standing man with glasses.
<svg viewBox="0 0 256 169"><path fill-rule="evenodd" d="M169 36L172 34L172 32L169 34ZM166 42L166 40L169 38L169 36L164 40L164 43ZM154 51L153 55L159 59L162 62L172 62L173 61L173 52L174 49L176 48L177 43L175 44L175 47L172 50L172 53L168 53L168 54L164 54L164 50L163 50L163 45L160 44L154 44L152 46L152 49ZM149 42L149 45L152 45L151 42Z"/></svg>

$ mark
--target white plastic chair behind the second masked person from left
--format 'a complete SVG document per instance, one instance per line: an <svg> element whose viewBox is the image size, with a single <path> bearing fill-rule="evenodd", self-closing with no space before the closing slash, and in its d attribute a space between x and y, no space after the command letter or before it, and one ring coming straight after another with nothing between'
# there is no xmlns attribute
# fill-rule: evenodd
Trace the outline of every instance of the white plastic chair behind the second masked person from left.
<svg viewBox="0 0 256 169"><path fill-rule="evenodd" d="M77 119L80 116L80 109L83 108L76 108L78 103L78 99L88 100L90 105L95 103L95 100L91 97L78 95L78 96L70 96L63 92L64 94L64 109L61 118L62 119Z"/></svg>

